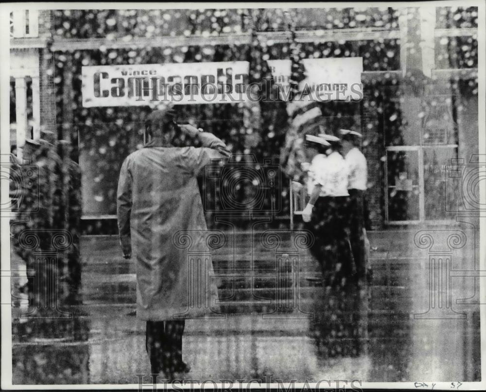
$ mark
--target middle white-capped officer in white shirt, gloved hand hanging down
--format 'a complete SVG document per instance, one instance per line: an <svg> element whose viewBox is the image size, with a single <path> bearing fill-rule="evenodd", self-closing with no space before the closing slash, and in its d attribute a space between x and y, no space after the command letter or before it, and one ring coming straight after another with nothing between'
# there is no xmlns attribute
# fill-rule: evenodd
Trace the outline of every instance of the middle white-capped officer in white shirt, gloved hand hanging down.
<svg viewBox="0 0 486 392"><path fill-rule="evenodd" d="M315 137L315 136L314 136ZM348 203L347 164L341 155L340 139L336 136L320 134L326 141L326 158L318 161L318 170L309 203L302 217L309 223L309 229L316 232L315 240L319 251L324 285L341 286L354 274L354 261L346 231L346 209Z"/></svg>

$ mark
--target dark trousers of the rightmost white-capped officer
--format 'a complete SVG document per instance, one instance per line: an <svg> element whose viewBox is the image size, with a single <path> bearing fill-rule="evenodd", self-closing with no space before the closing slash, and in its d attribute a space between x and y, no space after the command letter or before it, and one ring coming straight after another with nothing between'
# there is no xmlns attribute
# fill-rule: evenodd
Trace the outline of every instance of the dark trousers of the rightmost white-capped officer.
<svg viewBox="0 0 486 392"><path fill-rule="evenodd" d="M364 244L364 191L348 189L349 192L349 241L356 264L358 278L366 273L366 249Z"/></svg>

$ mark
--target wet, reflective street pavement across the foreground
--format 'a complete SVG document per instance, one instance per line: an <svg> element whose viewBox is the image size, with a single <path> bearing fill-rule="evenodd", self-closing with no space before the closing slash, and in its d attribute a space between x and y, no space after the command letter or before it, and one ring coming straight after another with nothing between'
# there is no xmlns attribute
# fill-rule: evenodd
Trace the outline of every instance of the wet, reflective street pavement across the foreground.
<svg viewBox="0 0 486 392"><path fill-rule="evenodd" d="M466 233L465 245L447 248L452 229ZM186 379L478 380L479 286L464 273L477 269L478 248L469 226L452 229L433 229L431 247L418 229L368 233L373 279L335 300L290 239L269 249L257 244L260 233L229 233L212 254L218 313L186 322ZM136 384L150 373L134 261L120 254L117 237L81 239L81 302L62 307L72 318L18 320L14 308L14 384ZM319 313L323 301L335 310Z"/></svg>

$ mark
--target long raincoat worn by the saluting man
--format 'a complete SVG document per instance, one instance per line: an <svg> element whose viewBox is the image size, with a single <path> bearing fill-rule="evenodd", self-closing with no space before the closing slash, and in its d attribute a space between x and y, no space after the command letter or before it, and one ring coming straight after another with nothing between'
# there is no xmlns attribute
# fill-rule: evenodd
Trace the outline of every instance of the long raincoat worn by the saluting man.
<svg viewBox="0 0 486 392"><path fill-rule="evenodd" d="M198 295L195 287L211 286L214 304L216 288L207 279L212 266L205 267L203 263L206 271L193 276L188 252L197 252L198 244L204 251L207 229L197 175L211 160L226 158L230 152L212 134L202 132L199 137L201 148L149 143L131 153L121 166L118 226L121 242L131 241L137 263L137 317L141 320L207 314L208 307L197 302L201 298L193 301L193 296ZM197 261L201 260L196 257ZM208 290L204 295L208 295ZM194 306L196 303L199 306Z"/></svg>

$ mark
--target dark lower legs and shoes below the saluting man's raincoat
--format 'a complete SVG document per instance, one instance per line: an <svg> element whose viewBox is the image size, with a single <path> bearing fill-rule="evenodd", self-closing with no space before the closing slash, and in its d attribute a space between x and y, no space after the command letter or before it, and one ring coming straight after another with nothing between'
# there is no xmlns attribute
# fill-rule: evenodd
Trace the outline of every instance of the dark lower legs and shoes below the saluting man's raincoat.
<svg viewBox="0 0 486 392"><path fill-rule="evenodd" d="M174 373L184 370L182 361L182 334L184 320L147 321L145 346L150 358L152 374L163 372L172 378Z"/></svg>

